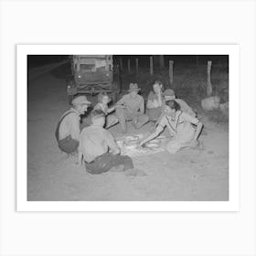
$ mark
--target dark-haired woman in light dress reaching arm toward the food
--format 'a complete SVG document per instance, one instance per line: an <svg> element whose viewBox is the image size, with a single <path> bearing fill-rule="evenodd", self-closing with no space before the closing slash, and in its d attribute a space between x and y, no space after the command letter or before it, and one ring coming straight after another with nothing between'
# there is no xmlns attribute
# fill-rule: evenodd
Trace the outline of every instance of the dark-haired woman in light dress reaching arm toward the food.
<svg viewBox="0 0 256 256"><path fill-rule="evenodd" d="M196 126L196 129L193 124ZM197 139L203 124L196 117L189 115L187 112L182 112L176 101L167 101L165 114L157 125L155 132L145 138L140 145L153 140L164 131L165 126L167 126L172 136L170 142L166 145L166 150L170 154L174 154L181 148L197 146Z"/></svg>

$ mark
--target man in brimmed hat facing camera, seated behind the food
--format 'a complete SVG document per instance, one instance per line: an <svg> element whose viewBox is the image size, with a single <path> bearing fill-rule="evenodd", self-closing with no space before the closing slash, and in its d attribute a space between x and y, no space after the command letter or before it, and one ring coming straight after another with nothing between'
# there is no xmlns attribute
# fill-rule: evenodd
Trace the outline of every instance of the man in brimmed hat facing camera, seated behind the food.
<svg viewBox="0 0 256 256"><path fill-rule="evenodd" d="M126 121L132 121L136 129L149 121L148 116L144 114L144 98L138 94L139 91L137 83L130 83L129 93L117 101L115 112L123 133L127 132Z"/></svg>

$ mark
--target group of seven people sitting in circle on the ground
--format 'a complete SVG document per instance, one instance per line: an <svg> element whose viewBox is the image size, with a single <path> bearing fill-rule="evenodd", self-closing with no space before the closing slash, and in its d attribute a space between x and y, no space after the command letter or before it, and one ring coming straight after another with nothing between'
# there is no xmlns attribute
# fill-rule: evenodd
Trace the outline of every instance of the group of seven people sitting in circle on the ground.
<svg viewBox="0 0 256 256"><path fill-rule="evenodd" d="M79 153L79 165L84 164L91 174L100 174L116 167L127 174L137 174L133 160L127 155L120 155L120 148L107 129L120 123L122 133L127 132L127 121L132 121L136 129L145 123L155 122L153 132L140 143L144 145L162 133L165 126L172 138L166 150L174 154L179 149L197 146L197 138L203 124L185 101L176 99L175 91L163 92L163 84L155 81L154 91L148 95L146 111L144 98L138 94L137 83L131 83L129 91L120 101L109 107L111 99L100 93L98 103L91 112L91 125L80 129L80 115L87 112L91 102L86 96L79 96L72 101L72 108L65 112L57 126L56 138L59 149L67 154Z"/></svg>

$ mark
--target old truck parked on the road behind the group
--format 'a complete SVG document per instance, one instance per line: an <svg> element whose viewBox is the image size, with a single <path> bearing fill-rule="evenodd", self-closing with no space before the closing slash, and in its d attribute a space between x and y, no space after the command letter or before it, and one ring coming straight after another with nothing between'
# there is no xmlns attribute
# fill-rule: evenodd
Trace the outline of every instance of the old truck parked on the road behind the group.
<svg viewBox="0 0 256 256"><path fill-rule="evenodd" d="M115 102L121 92L121 73L112 55L71 55L71 75L67 80L69 104L76 95L106 92Z"/></svg>

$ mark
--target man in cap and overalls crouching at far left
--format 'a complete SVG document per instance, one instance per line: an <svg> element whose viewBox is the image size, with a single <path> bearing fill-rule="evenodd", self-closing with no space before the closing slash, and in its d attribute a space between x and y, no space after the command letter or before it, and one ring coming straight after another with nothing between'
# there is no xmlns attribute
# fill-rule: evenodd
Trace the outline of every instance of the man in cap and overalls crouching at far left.
<svg viewBox="0 0 256 256"><path fill-rule="evenodd" d="M80 115L87 112L90 104L86 96L76 97L69 111L61 116L55 135L62 152L72 154L77 151L80 138Z"/></svg>

